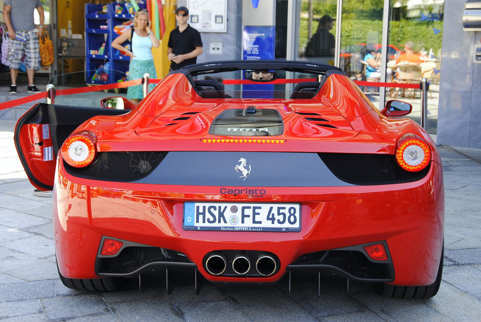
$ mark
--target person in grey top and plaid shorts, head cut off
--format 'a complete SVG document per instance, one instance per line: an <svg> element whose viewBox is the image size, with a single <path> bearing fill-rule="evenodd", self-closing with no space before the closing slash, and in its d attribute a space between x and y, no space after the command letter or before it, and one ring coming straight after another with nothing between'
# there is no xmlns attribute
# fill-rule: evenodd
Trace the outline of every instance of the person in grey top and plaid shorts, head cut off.
<svg viewBox="0 0 481 322"><path fill-rule="evenodd" d="M37 8L40 17L38 32L34 32L34 10ZM17 75L20 61L25 55L27 67L28 87L27 91L37 93L40 90L33 83L34 71L40 68L38 61L38 37L43 32L43 8L40 0L4 0L3 20L8 28L9 46L8 56L10 59L10 76L12 85L10 94L17 93Z"/></svg>

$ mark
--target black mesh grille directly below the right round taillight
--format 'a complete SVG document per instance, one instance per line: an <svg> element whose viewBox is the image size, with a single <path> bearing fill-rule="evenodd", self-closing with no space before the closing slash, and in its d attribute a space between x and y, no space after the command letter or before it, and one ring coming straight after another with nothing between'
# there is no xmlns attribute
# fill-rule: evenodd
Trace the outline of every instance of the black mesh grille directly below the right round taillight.
<svg viewBox="0 0 481 322"><path fill-rule="evenodd" d="M412 182L424 178L429 166L408 172L398 166L394 155L361 153L318 153L329 170L339 179L359 185Z"/></svg>

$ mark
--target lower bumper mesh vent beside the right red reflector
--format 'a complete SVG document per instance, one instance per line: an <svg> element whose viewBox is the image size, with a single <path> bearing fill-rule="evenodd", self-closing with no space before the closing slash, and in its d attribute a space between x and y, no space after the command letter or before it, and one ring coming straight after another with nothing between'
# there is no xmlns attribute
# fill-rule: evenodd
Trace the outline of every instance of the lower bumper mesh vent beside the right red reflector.
<svg viewBox="0 0 481 322"><path fill-rule="evenodd" d="M385 264L371 262L362 252L355 250L309 253L298 258L297 262L336 266L359 278L389 278L384 270Z"/></svg>

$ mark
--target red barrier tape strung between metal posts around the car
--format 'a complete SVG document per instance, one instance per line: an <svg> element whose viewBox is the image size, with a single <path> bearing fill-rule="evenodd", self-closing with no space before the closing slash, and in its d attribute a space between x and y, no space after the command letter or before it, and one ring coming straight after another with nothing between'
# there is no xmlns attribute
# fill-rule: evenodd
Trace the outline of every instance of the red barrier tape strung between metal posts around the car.
<svg viewBox="0 0 481 322"><path fill-rule="evenodd" d="M152 78L149 79L151 84L158 84L162 79ZM296 84L302 82L316 82L317 78L297 78L297 79L276 79L269 84ZM96 85L96 86L88 86L88 87L79 87L73 89L66 89L66 90L56 90L55 95L71 95L71 94L79 94L79 93L87 93L91 91L99 91L99 90L112 90L116 88L125 88L129 86L135 86L142 83L142 79L134 79L128 80L125 82L113 83L113 84L105 84L105 85ZM225 85L241 85L241 84L259 84L259 82L254 82L249 79L224 79L223 83ZM354 80L358 86L371 86L371 87L399 87L399 88L408 88L408 89L419 89L419 84L405 84L405 83L381 83L381 82L367 82L363 80ZM266 83L263 83L266 84ZM4 103L0 103L0 110L4 110L6 108L10 108L13 106L33 102L42 98L46 97L46 92L41 92L38 94L22 97L13 101L8 101Z"/></svg>

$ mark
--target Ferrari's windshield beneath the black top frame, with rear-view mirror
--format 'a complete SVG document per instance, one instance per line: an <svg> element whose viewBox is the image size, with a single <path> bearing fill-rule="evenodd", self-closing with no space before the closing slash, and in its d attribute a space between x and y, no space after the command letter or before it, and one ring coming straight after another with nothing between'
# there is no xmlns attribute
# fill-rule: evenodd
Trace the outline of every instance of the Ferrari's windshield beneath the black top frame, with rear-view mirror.
<svg viewBox="0 0 481 322"><path fill-rule="evenodd" d="M236 70L194 75L194 88L204 98L313 98L324 73L284 70Z"/></svg>

